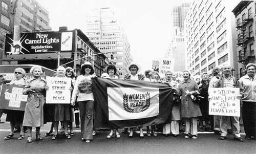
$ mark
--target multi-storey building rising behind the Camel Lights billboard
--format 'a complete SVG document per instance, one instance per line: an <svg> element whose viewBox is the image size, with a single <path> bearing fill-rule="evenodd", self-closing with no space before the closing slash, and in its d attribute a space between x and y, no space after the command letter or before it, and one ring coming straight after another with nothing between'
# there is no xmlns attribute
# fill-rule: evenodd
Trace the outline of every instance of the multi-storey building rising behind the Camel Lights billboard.
<svg viewBox="0 0 256 154"><path fill-rule="evenodd" d="M2 6L0 59L3 58L5 35L13 33L14 25L18 25L21 32L51 29L48 11L35 0L0 0L0 2Z"/></svg>

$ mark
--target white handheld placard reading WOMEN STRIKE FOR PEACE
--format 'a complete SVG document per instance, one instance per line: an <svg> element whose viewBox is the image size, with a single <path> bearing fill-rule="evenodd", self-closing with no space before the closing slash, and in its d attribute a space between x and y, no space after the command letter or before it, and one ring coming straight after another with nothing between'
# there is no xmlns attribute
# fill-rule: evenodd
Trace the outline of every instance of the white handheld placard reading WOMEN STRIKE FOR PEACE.
<svg viewBox="0 0 256 154"><path fill-rule="evenodd" d="M71 78L46 77L49 90L46 91L47 104L70 104Z"/></svg>

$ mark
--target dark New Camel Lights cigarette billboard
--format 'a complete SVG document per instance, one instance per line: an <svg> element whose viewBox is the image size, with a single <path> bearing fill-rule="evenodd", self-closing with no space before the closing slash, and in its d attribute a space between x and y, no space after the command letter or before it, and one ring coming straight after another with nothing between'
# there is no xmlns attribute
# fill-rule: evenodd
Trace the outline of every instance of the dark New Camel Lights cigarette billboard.
<svg viewBox="0 0 256 154"><path fill-rule="evenodd" d="M73 32L21 33L18 40L6 34L5 55L37 54L54 51L72 51Z"/></svg>

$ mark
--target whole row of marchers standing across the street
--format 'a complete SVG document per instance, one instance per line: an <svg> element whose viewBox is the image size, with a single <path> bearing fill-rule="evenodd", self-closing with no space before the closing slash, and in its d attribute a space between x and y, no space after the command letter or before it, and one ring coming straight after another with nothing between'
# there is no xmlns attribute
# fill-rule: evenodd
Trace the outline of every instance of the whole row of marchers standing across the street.
<svg viewBox="0 0 256 154"><path fill-rule="evenodd" d="M245 129L245 139L255 139L256 137L256 65L249 63L246 66L247 74L239 80L231 76L231 68L224 65L222 69L214 68L212 76L207 73L202 73L202 80L196 82L190 78L188 71L183 71L183 80L177 80L172 72L167 71L164 79L160 78L157 72L147 70L144 74L140 74L140 65L132 62L127 71L129 74L124 75L124 80L144 80L149 82L161 82L168 84L175 90L173 107L171 111L171 120L166 121L161 125L146 126L147 136L157 136L159 131L164 136L172 134L174 137L180 135L184 125L184 138L198 138L199 131L214 131L215 134L220 134L220 139L225 140L227 130L233 131L234 139L243 141L240 136L239 117L227 116L212 116L209 115L209 95L208 89L212 87L239 87L240 95L237 97L242 102L242 118ZM106 68L106 73L101 75L102 78L118 79L116 76L115 65L109 65ZM221 73L222 72L222 73ZM94 133L94 96L92 92L91 79L95 78L93 65L90 62L85 62L81 65L81 72L75 78L74 70L70 67L57 68L56 77L71 78L72 84L69 87L71 91L70 104L46 104L46 91L49 86L45 79L40 77L42 70L39 66L32 67L30 73L32 78L25 78L25 70L17 68L14 71L15 79L10 85L24 86L23 93L28 95L25 111L7 111L6 121L10 122L11 131L4 139L9 140L14 138L14 127L18 123L20 134L17 138L22 140L25 138L24 127L28 130L27 142L32 140L32 127L36 128L36 140L42 140L40 127L47 122L52 122L51 128L45 134L45 137L52 135L52 140L58 138L58 125L61 123L63 133L67 139L71 139L74 135L73 121L75 115L76 125L81 128L81 140L87 143L93 140ZM86 87L84 87L86 85ZM79 117L74 114L74 110L79 108ZM80 122L79 120L80 119ZM199 125L198 125L199 121ZM70 130L68 130L70 128ZM143 138L143 127L123 128L123 133L126 133L129 138L135 134L135 130L139 129L139 137ZM53 131L54 129L54 131ZM109 135L106 137L120 138L117 128L112 128Z"/></svg>

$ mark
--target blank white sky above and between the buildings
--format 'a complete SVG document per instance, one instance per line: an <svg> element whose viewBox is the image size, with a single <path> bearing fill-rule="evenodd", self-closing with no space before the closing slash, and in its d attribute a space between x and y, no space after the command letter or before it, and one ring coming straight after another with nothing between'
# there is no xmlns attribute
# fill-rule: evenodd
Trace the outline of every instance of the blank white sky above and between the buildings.
<svg viewBox="0 0 256 154"><path fill-rule="evenodd" d="M49 11L50 27L58 31L81 29L85 33L90 9L110 7L122 23L131 46L132 58L142 70L152 68L152 60L164 57L171 40L172 8L182 1L174 0L37 0Z"/></svg>

